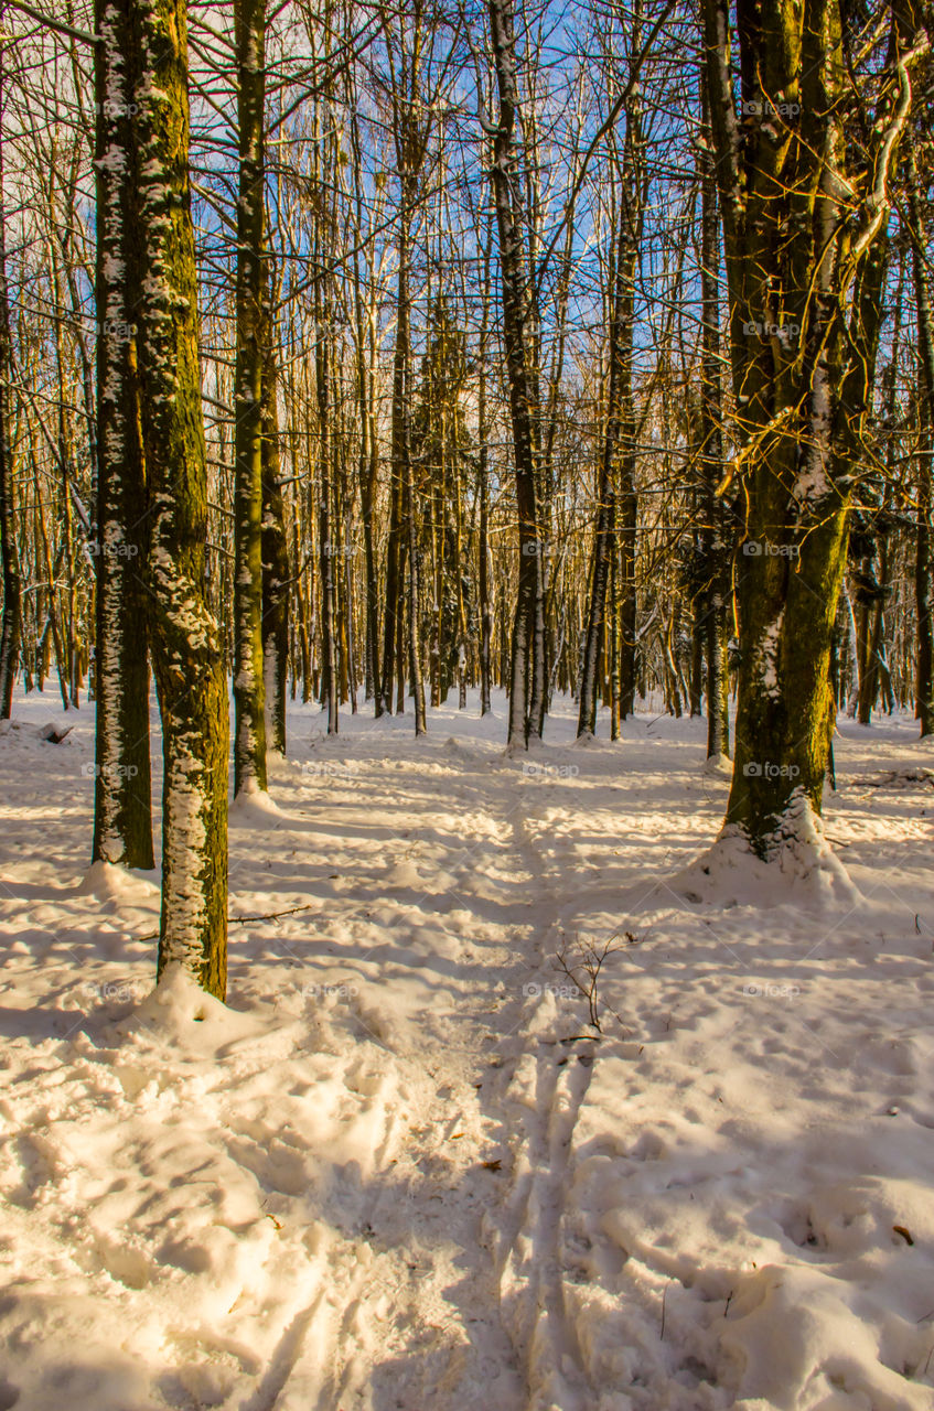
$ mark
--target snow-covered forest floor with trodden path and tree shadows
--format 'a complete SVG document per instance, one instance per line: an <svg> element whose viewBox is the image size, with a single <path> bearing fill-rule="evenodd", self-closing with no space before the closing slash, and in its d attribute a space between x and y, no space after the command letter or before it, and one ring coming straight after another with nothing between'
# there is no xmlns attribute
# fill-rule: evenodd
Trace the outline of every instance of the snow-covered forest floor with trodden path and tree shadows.
<svg viewBox="0 0 934 1411"><path fill-rule="evenodd" d="M914 721L839 724L848 899L693 889L700 721L289 728L227 1007L152 992L155 873L87 875L93 708L0 735L0 1411L934 1407ZM557 957L608 943L598 1033Z"/></svg>

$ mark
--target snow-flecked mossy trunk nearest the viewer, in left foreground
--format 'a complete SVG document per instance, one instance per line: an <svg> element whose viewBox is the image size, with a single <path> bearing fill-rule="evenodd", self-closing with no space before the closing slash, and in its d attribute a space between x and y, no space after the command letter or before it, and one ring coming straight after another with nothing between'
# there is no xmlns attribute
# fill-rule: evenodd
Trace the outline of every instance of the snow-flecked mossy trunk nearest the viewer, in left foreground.
<svg viewBox="0 0 934 1411"><path fill-rule="evenodd" d="M133 209L127 285L138 291L140 425L150 488L150 639L162 714L159 974L181 964L219 999L227 982L230 725L206 586L207 467L189 190L185 0L120 0Z"/></svg>

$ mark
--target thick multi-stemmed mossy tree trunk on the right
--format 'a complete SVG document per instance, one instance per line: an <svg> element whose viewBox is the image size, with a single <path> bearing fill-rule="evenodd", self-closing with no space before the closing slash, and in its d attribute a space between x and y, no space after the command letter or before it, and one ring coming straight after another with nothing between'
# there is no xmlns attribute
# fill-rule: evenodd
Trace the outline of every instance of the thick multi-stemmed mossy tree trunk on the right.
<svg viewBox="0 0 934 1411"><path fill-rule="evenodd" d="M734 474L749 507L727 824L769 858L821 810L831 638L910 66L896 25L893 83L861 169L844 138L854 93L839 0L742 3L735 31L727 0L704 0L703 17L742 437Z"/></svg>

